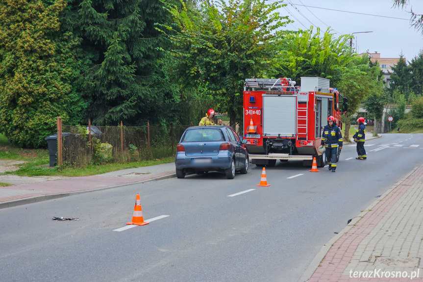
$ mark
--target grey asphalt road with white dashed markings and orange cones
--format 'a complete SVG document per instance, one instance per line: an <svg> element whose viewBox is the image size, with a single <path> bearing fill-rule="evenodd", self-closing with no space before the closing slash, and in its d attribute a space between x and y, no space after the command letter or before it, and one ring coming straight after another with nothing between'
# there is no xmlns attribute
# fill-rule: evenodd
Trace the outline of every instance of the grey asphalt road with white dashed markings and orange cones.
<svg viewBox="0 0 423 282"><path fill-rule="evenodd" d="M296 282L348 219L423 165L423 134L385 134L365 148L361 161L344 146L336 173L278 162L266 169L269 187L256 186L261 168L251 166L233 180L192 175L1 209L0 280ZM145 220L169 216L115 231L136 193Z"/></svg>

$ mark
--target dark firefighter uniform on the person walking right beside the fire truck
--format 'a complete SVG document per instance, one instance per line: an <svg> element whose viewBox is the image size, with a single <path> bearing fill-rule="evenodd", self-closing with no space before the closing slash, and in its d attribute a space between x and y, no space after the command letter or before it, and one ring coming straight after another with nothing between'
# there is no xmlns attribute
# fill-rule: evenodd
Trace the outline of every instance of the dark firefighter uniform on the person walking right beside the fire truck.
<svg viewBox="0 0 423 282"><path fill-rule="evenodd" d="M336 154L338 147L342 147L343 139L341 129L332 124L323 128L322 145L326 148L326 161L329 164L329 170L336 170Z"/></svg>

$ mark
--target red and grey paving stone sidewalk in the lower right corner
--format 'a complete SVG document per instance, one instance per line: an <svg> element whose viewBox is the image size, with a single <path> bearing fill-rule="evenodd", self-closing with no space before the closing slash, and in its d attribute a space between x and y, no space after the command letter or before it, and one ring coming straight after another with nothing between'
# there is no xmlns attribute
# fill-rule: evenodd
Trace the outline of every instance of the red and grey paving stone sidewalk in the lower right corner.
<svg viewBox="0 0 423 282"><path fill-rule="evenodd" d="M321 261L317 269L312 263L301 281L423 282L423 167L401 179L327 245L323 260L319 255L314 260Z"/></svg>

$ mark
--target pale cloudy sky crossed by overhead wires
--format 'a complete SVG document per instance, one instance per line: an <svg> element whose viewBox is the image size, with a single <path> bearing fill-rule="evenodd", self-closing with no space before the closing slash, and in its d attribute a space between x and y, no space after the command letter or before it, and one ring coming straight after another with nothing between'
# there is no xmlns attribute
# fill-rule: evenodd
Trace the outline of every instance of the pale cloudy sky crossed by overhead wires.
<svg viewBox="0 0 423 282"><path fill-rule="evenodd" d="M411 8L413 12L423 14L423 0L410 0L404 9L393 8L392 0L284 0L284 2L288 5L281 8L280 13L288 15L295 21L288 26L289 29L306 29L313 25L319 26L324 31L330 26L337 35L373 31L353 34L355 36L353 47L357 48L359 53L367 50L377 51L383 58L398 58L402 51L406 59L411 60L423 49L422 31L410 26L409 21Z"/></svg>

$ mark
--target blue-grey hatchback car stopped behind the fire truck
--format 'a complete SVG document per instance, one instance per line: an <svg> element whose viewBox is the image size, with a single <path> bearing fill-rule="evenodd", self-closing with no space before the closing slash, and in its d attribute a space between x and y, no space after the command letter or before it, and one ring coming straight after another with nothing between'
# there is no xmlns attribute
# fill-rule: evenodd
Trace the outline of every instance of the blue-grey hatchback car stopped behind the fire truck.
<svg viewBox="0 0 423 282"><path fill-rule="evenodd" d="M235 171L248 173L249 155L242 137L228 126L187 128L176 146L176 177L186 173L224 172L227 179Z"/></svg>

